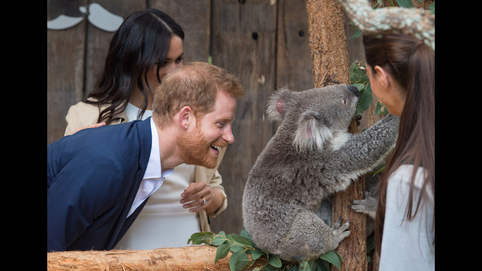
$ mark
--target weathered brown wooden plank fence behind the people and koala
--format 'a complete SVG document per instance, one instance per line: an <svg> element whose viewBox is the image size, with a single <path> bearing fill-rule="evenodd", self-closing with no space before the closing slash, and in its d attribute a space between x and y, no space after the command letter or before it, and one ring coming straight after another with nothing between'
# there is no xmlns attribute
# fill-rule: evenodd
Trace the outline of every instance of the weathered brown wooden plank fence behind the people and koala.
<svg viewBox="0 0 482 271"><path fill-rule="evenodd" d="M213 232L243 229L241 195L247 175L275 131L265 105L277 88L313 88L304 0L96 0L125 18L145 8L169 14L185 32L186 61L208 61L238 75L247 96L238 103L235 143L219 172L226 211L211 219ZM47 0L47 20L82 16L87 0ZM349 37L353 30L346 22ZM47 144L63 136L68 108L92 90L112 32L83 20L66 30L47 30ZM348 40L350 62L361 60L360 39ZM347 63L348 64L348 63Z"/></svg>

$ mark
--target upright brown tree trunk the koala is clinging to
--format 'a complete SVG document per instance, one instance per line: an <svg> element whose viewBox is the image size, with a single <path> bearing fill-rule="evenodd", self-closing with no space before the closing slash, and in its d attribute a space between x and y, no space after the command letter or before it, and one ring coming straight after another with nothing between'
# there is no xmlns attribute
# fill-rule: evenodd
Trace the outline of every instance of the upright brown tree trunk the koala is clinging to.
<svg viewBox="0 0 482 271"><path fill-rule="evenodd" d="M350 84L341 6L334 0L306 0L306 11L315 87ZM355 120L350 132L358 133ZM363 199L364 188L363 177L331 198L333 223L339 219L350 221L351 234L336 250L343 258L341 270L366 270L366 215L349 207L351 200Z"/></svg>

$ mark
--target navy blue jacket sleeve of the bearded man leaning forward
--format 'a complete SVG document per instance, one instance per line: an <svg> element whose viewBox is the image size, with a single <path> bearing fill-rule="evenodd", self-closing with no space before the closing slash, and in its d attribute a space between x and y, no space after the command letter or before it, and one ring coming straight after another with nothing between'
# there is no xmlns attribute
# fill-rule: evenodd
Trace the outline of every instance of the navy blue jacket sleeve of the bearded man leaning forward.
<svg viewBox="0 0 482 271"><path fill-rule="evenodd" d="M107 220L116 213L123 191L122 168L106 156L83 153L47 176L51 180L47 186L47 252L65 251L77 239L88 238L83 234L95 219L102 215Z"/></svg>

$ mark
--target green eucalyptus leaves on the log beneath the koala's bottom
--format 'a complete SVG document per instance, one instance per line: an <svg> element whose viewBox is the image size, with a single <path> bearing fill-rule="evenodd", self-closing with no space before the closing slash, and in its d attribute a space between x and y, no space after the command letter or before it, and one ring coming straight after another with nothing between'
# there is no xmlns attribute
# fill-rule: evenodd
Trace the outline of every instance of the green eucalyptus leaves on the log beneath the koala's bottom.
<svg viewBox="0 0 482 271"><path fill-rule="evenodd" d="M253 271L330 271L330 264L340 269L340 263L343 262L341 256L333 251L321 255L318 259L284 261L278 256L270 254L267 250L256 248L246 230L243 230L241 235L226 235L222 231L218 234L211 232L195 233L191 235L187 244L191 242L192 244L205 243L217 246L214 263L226 257L229 251L232 251L233 255L229 259L231 271L250 269L254 262L262 257L266 259L266 265L256 267ZM252 259L249 258L248 254L251 254Z"/></svg>

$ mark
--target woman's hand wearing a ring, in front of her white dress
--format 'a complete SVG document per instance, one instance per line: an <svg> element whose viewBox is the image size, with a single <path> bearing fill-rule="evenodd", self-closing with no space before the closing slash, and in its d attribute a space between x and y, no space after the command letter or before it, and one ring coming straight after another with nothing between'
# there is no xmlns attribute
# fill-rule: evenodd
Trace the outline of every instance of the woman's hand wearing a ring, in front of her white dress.
<svg viewBox="0 0 482 271"><path fill-rule="evenodd" d="M222 194L217 189L212 189L206 182L191 182L184 193L181 194L181 204L190 212L206 210L207 214L215 212L222 204Z"/></svg>

